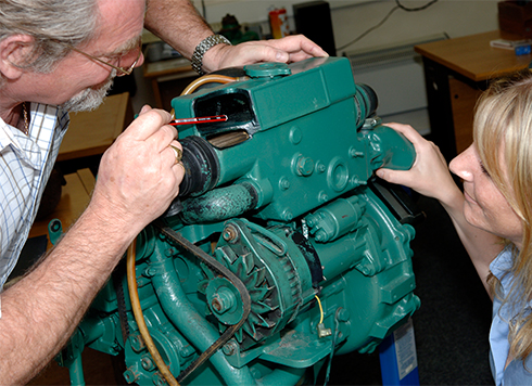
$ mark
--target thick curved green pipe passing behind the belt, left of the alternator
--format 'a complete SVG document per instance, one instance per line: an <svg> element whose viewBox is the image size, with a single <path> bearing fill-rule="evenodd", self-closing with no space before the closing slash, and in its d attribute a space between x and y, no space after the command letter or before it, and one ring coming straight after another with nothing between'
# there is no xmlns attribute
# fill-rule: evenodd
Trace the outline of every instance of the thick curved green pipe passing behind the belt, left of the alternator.
<svg viewBox="0 0 532 386"><path fill-rule="evenodd" d="M151 267L156 272L152 282L161 307L194 347L200 351L206 350L216 342L219 333L188 301L173 260L155 252L151 255ZM233 368L221 351L215 352L210 360L228 385L256 384L248 368Z"/></svg>

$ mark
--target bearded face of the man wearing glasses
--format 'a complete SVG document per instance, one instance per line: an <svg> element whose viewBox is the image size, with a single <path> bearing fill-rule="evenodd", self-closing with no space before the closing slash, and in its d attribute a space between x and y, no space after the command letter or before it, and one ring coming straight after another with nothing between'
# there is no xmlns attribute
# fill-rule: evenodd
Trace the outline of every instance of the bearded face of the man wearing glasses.
<svg viewBox="0 0 532 386"><path fill-rule="evenodd" d="M115 66L130 66L139 54L144 0L99 0L99 27L93 39L79 50ZM143 62L142 54L136 66ZM116 70L72 51L49 74L35 77L33 101L62 105L68 111L93 110L111 88Z"/></svg>

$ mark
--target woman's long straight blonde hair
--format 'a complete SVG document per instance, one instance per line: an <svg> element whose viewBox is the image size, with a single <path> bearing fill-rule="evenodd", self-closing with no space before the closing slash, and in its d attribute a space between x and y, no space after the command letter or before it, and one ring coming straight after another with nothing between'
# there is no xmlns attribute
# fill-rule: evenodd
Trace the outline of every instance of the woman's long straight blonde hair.
<svg viewBox="0 0 532 386"><path fill-rule="evenodd" d="M502 298L516 310L509 322L510 353L525 359L532 352L532 316L520 310L532 299L532 72L524 69L493 81L479 99L473 138L480 159L522 222L522 246L514 247L509 294ZM501 160L504 159L504 169ZM498 282L489 281L498 294ZM511 301L509 300L511 299Z"/></svg>

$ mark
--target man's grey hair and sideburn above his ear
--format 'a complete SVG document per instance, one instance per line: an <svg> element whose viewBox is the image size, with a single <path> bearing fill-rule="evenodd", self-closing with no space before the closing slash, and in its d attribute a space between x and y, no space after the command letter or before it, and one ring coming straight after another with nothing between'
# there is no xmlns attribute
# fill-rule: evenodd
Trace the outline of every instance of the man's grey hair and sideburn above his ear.
<svg viewBox="0 0 532 386"><path fill-rule="evenodd" d="M76 46L93 37L98 0L0 0L0 41L30 35L34 50L20 66L47 73Z"/></svg>

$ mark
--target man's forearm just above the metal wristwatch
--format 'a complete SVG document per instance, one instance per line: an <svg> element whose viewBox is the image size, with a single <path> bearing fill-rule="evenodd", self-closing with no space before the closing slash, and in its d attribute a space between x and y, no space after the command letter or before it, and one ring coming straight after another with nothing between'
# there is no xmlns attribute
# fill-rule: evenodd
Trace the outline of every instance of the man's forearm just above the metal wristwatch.
<svg viewBox="0 0 532 386"><path fill-rule="evenodd" d="M189 0L149 0L145 27L188 59L213 30Z"/></svg>

